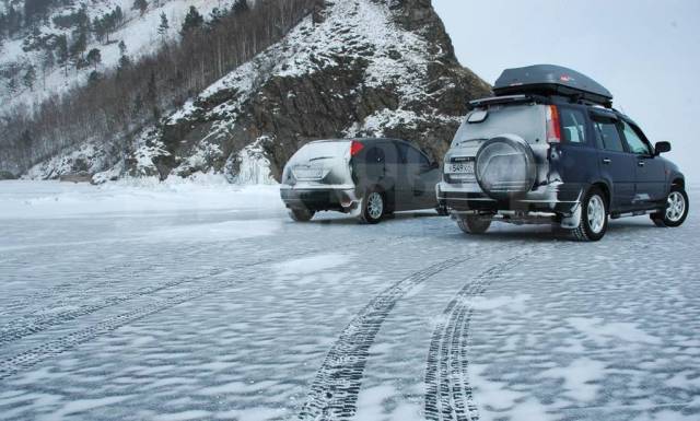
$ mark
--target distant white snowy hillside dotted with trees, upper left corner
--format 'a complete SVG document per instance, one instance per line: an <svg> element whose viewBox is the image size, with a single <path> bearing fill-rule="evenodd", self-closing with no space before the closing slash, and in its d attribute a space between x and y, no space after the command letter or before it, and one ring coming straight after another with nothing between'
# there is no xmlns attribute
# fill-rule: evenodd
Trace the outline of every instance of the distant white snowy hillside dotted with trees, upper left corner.
<svg viewBox="0 0 700 421"><path fill-rule="evenodd" d="M214 8L222 8L233 3L233 0L151 0L143 14L133 10L133 0L91 0L66 2L50 10L47 17L36 25L35 30L24 28L20 33L5 39L0 46L0 114L16 106L33 106L46 100L51 94L62 93L70 87L88 82L93 70L105 72L116 68L121 51L119 43L127 47L126 55L135 60L158 49L164 39L178 37L187 10L194 5L202 15L208 15ZM22 9L23 1L13 2L15 9ZM121 23L109 33L108 40L97 40L94 32L88 38L85 52L93 48L100 49L101 63L96 67L88 66L77 69L69 65L66 69L59 63L58 50L55 47L56 37L65 35L70 46L75 39L77 26L62 27L55 23L57 16L78 13L85 7L92 23L95 17L103 17L117 8L124 15ZM159 34L161 13L165 13L170 28ZM51 51L52 62L47 62L47 51ZM30 67L34 67L36 81L32 87L25 82ZM12 84L14 87L12 87Z"/></svg>

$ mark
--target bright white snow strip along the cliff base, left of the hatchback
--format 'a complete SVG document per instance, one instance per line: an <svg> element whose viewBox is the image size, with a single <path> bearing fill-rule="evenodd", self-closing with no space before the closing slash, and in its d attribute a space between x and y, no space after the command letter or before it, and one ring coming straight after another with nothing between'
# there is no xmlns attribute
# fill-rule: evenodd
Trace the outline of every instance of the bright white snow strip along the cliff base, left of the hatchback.
<svg viewBox="0 0 700 421"><path fill-rule="evenodd" d="M172 177L165 182L127 178L97 186L56 180L0 182L0 220L232 209L282 212L279 187L233 185L223 176Z"/></svg>

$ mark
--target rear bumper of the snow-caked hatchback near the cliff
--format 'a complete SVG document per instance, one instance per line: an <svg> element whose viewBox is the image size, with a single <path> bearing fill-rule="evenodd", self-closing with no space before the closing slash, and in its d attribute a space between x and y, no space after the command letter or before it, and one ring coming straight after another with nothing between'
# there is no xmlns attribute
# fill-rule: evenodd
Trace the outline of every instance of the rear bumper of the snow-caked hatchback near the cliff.
<svg viewBox="0 0 700 421"><path fill-rule="evenodd" d="M311 211L350 212L359 207L360 200L354 188L342 187L300 187L283 185L280 196L287 208L305 208Z"/></svg>

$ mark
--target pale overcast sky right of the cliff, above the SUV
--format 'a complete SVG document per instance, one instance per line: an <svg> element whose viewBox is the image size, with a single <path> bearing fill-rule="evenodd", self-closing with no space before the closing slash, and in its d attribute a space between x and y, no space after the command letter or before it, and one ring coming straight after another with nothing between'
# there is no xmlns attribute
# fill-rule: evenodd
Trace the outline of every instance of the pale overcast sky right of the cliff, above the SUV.
<svg viewBox="0 0 700 421"><path fill-rule="evenodd" d="M433 0L463 66L551 63L606 86L615 107L700 184L700 0Z"/></svg>

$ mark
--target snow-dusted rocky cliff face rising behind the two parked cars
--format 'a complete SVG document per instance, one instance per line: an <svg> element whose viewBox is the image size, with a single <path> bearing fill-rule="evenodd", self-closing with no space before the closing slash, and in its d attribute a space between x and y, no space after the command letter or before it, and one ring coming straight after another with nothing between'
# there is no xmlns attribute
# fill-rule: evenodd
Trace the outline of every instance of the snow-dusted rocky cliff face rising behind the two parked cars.
<svg viewBox="0 0 700 421"><path fill-rule="evenodd" d="M429 0L326 1L281 43L136 136L116 166L85 147L61 157L62 169L52 160L31 174L89 162L97 180L221 172L266 183L310 140L362 136L402 138L440 159L467 101L489 92L456 60Z"/></svg>

